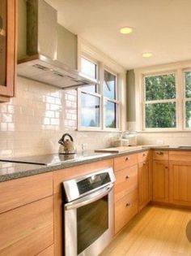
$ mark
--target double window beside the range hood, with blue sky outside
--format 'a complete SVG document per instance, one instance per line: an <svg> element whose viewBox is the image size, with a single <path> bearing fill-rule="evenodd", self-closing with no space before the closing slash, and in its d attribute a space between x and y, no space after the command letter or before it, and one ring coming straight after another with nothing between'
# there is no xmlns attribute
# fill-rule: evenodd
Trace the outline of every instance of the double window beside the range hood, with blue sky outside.
<svg viewBox="0 0 191 256"><path fill-rule="evenodd" d="M81 72L96 79L98 85L79 89L79 128L117 129L119 102L117 75L104 69L104 63L81 58ZM103 79L99 82L99 78Z"/></svg>

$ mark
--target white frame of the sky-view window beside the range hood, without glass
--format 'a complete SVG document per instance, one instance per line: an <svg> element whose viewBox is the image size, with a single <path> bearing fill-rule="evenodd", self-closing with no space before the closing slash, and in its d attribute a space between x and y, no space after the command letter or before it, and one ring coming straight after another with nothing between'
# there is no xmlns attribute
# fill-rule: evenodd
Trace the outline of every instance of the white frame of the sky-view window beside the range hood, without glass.
<svg viewBox="0 0 191 256"><path fill-rule="evenodd" d="M96 61L95 59L91 59L87 54L82 54L80 58L87 59L91 63L95 63L97 70L97 82L98 82L98 89L97 93L91 93L86 92L83 90L83 88L78 89L78 130L79 131L104 131L104 132L119 132L120 131L120 102L119 102L119 86L118 86L118 75L117 72L113 72L110 68L105 67L104 63L100 63ZM116 76L116 98L117 99L111 99L104 97L104 71L107 71L111 73L113 76ZM81 105L81 93L87 93L89 95L99 97L100 98L100 127L84 127L81 124L81 116L82 116L82 105ZM106 128L104 124L105 119L105 111L104 111L104 102L114 102L117 104L117 111L116 111L116 122L117 122L117 128Z"/></svg>

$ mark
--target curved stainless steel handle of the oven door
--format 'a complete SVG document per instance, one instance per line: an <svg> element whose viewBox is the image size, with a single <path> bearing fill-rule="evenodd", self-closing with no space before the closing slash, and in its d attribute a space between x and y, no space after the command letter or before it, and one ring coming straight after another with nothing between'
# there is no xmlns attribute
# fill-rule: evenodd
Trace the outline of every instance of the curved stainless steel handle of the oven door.
<svg viewBox="0 0 191 256"><path fill-rule="evenodd" d="M71 210L75 208L79 208L81 206L86 206L87 204L91 202L95 202L99 200L101 197L106 196L113 188L113 184L108 185L104 189L100 189L96 191L95 193L91 193L87 195L86 197L79 198L78 200L75 200L74 202L69 202L65 204L65 210Z"/></svg>

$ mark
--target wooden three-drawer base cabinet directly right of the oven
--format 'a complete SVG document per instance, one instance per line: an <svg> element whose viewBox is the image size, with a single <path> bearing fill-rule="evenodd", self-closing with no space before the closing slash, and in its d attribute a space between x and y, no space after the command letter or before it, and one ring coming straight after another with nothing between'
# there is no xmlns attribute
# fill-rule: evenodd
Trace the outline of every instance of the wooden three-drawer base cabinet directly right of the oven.
<svg viewBox="0 0 191 256"><path fill-rule="evenodd" d="M114 158L115 234L138 213L138 154Z"/></svg>

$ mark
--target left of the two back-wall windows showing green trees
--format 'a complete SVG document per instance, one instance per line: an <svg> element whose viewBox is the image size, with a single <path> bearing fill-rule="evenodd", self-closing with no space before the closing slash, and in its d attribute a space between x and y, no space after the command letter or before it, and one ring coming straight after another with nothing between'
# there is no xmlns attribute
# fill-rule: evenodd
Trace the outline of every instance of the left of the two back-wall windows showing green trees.
<svg viewBox="0 0 191 256"><path fill-rule="evenodd" d="M144 128L176 128L176 74L144 76Z"/></svg>

